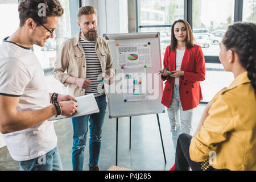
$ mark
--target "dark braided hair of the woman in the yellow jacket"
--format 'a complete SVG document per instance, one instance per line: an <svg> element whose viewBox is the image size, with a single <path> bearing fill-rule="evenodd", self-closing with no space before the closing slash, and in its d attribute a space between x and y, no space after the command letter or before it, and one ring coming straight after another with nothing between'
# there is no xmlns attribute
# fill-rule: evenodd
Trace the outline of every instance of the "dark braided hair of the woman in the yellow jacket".
<svg viewBox="0 0 256 182"><path fill-rule="evenodd" d="M256 24L234 23L229 26L222 43L237 53L256 94Z"/></svg>

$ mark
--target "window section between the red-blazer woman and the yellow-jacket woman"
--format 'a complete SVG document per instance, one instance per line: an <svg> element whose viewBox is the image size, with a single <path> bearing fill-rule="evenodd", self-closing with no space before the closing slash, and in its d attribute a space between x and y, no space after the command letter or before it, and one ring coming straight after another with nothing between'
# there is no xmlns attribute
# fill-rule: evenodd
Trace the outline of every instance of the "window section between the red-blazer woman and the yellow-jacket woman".
<svg viewBox="0 0 256 182"><path fill-rule="evenodd" d="M193 1L193 36L204 56L216 56L217 59L222 37L228 26L234 23L234 3L234 0ZM218 91L230 85L234 77L224 70L222 64L208 63L207 59L205 62L205 81L200 84L203 101L208 102Z"/></svg>

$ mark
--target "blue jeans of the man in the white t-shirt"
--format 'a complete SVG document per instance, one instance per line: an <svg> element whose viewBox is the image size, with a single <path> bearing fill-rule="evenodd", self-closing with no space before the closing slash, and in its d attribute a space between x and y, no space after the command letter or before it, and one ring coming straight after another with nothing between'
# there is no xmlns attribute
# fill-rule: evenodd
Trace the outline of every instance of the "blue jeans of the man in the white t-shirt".
<svg viewBox="0 0 256 182"><path fill-rule="evenodd" d="M20 171L63 171L58 146L35 159L19 161Z"/></svg>

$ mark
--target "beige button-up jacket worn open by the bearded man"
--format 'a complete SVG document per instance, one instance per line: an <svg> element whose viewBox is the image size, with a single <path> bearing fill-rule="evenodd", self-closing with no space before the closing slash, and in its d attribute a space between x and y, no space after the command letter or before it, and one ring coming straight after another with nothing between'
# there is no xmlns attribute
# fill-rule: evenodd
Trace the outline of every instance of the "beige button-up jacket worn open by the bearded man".
<svg viewBox="0 0 256 182"><path fill-rule="evenodd" d="M65 83L69 76L86 78L86 57L80 43L80 33L81 31L74 38L68 39L62 44L52 72L53 77L63 83L64 86L69 85L69 94L73 97L84 96L85 94L85 89L75 84ZM104 38L99 37L96 40L95 51L100 60L103 75L104 73L113 73L115 75L108 42Z"/></svg>

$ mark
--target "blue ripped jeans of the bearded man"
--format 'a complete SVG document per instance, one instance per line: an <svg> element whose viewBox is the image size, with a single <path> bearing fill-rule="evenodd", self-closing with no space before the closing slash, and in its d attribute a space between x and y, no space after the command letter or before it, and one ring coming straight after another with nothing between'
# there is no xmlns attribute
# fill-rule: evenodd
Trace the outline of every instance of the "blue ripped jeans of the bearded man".
<svg viewBox="0 0 256 182"><path fill-rule="evenodd" d="M73 171L82 171L84 166L84 150L88 134L88 121L90 122L89 138L89 166L98 166L101 150L102 127L106 113L106 95L95 97L100 110L99 113L82 115L72 118L73 147L72 166Z"/></svg>

